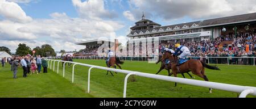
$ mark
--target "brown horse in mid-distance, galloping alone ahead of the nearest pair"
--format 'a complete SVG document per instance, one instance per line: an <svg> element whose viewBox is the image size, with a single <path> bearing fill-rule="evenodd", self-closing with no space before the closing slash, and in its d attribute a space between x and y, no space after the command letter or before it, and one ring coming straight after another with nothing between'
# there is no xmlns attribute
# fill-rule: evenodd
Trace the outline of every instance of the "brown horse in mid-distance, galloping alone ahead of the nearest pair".
<svg viewBox="0 0 256 109"><path fill-rule="evenodd" d="M108 68L110 68L112 66L113 68L117 69L117 66L118 66L118 68L122 69L119 64L123 64L123 63L124 62L120 61L119 58L117 58L117 57L110 57L109 61L108 61L108 63L106 63L106 65L108 66ZM117 65L117 66L115 66L115 65ZM106 75L108 75L109 72L112 74L112 76L114 76L113 73L109 70ZM117 73L117 72L115 72L115 73Z"/></svg>

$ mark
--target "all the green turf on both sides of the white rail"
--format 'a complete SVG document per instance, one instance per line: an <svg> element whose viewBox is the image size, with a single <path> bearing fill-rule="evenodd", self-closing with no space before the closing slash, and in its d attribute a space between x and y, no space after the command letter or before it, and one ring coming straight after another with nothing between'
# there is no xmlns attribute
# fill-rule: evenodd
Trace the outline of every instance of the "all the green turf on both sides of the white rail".
<svg viewBox="0 0 256 109"><path fill-rule="evenodd" d="M105 60L74 60L85 64L106 66ZM144 61L125 61L122 68L144 73L155 74L159 70L159 65L149 64ZM206 69L206 74L210 81L220 83L230 83L233 85L255 86L256 70L255 66L246 65L217 65L221 71ZM125 74L114 73L114 77L106 76L105 70L92 69L90 75L90 91L86 94L88 67L75 66L75 83L72 81L72 67L65 68L65 78L63 78L63 68L59 69L59 76L56 73L57 62L55 62L55 73L40 74L39 76L22 78L22 69L19 69L19 78L13 79L9 71L10 68L0 68L0 97L122 97L123 81ZM50 72L50 70L49 70ZM159 74L167 76L167 71L163 70ZM189 76L185 74L188 78ZM181 77L179 74L178 77ZM196 76L195 76L196 77ZM160 97L160 98L188 98L188 97L237 97L238 93L229 91L213 90L209 93L206 87L191 86L178 83L174 87L174 82L161 81L158 79L135 76L136 82L127 83L127 96L134 97ZM202 80L196 77L195 79ZM247 97L255 97L249 95Z"/></svg>

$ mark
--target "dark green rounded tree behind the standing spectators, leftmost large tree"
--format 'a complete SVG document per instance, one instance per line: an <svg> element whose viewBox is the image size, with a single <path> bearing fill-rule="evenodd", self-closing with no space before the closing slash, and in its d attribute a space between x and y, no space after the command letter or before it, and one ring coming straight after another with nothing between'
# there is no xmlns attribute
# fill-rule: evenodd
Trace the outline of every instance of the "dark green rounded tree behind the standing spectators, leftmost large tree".
<svg viewBox="0 0 256 109"><path fill-rule="evenodd" d="M25 56L27 54L31 54L31 48L28 47L26 44L19 44L18 48L16 49L16 55Z"/></svg>

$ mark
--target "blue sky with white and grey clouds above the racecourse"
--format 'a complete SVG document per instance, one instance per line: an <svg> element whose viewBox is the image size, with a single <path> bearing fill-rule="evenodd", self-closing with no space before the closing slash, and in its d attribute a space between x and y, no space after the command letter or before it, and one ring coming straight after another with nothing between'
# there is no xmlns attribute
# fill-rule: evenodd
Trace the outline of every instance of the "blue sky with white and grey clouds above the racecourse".
<svg viewBox="0 0 256 109"><path fill-rule="evenodd" d="M165 26L256 12L256 0L0 0L0 46L78 51L84 48L74 44L79 41L124 41L142 12Z"/></svg>

